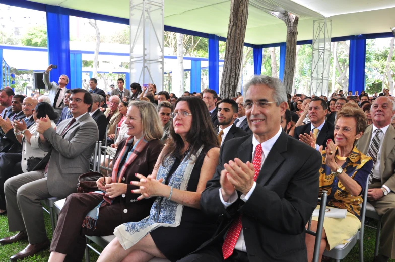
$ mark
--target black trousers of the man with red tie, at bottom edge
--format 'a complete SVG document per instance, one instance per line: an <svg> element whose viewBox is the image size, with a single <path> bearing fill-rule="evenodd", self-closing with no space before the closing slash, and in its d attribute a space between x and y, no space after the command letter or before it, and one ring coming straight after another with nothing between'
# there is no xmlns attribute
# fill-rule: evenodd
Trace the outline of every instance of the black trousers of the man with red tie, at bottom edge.
<svg viewBox="0 0 395 262"><path fill-rule="evenodd" d="M224 260L222 243L217 242L185 256L178 262L248 262L248 256L246 252L233 250L233 254Z"/></svg>

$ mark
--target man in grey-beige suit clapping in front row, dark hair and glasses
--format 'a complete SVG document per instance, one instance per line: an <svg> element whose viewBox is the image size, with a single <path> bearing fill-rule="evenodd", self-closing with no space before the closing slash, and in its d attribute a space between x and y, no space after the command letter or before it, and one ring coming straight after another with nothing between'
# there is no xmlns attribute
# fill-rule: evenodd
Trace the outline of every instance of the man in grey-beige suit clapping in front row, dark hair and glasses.
<svg viewBox="0 0 395 262"><path fill-rule="evenodd" d="M62 121L56 130L48 117L37 120L39 147L50 151L45 169L20 174L4 184L9 230L19 233L0 239L0 244L29 240L25 249L11 256L12 261L49 247L41 200L65 198L77 192L78 177L89 171L89 160L99 137L96 122L89 114L92 96L84 89L72 89L69 101L73 118Z"/></svg>

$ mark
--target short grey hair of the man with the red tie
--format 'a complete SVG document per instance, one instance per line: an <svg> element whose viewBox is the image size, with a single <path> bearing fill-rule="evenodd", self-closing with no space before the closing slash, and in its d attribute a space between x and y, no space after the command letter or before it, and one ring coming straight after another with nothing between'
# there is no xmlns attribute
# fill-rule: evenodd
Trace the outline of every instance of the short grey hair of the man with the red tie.
<svg viewBox="0 0 395 262"><path fill-rule="evenodd" d="M281 103L287 102L287 93L285 93L284 85L280 79L266 76L266 75L255 75L249 80L243 87L243 97L245 99L245 94L247 94L248 89L251 85L266 85L271 89L274 89L273 99L276 101L277 106Z"/></svg>

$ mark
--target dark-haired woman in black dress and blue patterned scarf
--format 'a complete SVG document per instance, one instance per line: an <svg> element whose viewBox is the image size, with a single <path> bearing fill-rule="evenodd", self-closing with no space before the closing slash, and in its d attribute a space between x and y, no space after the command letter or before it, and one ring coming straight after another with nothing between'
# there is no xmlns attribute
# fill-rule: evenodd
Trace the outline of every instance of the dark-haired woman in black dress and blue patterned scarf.
<svg viewBox="0 0 395 262"><path fill-rule="evenodd" d="M200 196L214 174L219 143L206 104L181 97L175 104L169 142L147 178L137 174L138 199L155 197L150 215L115 228L116 238L98 261L177 261L210 239L216 218L200 209Z"/></svg>

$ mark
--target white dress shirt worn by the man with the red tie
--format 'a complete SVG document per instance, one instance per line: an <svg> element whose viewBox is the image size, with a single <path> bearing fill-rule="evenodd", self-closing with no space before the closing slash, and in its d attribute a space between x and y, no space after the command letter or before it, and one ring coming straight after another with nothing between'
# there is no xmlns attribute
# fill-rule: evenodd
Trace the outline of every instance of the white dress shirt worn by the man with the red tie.
<svg viewBox="0 0 395 262"><path fill-rule="evenodd" d="M260 162L260 168L262 168L262 166L264 165L265 162L265 158L267 155L269 155L270 150L272 150L272 147L274 145L274 143L277 141L277 139L280 137L281 132L283 130L280 129L277 132L276 135L274 135L272 138L266 140L265 142L261 143L260 145L262 146L262 160ZM254 159L255 156L255 148L256 146L259 144L259 141L255 138L255 135L252 135L252 159ZM244 202L247 202L247 200L250 198L250 196L252 195L253 191L255 190L256 187L256 182L254 181L254 184L252 185L251 189L248 191L248 193L246 195L241 194L240 195L240 199ZM233 195L229 198L228 202L225 202L224 199L222 198L222 193L221 193L221 188L219 189L219 193L220 193L220 199L222 204L224 205L225 208L229 207L230 205L232 205L234 202L236 202L238 195L237 192L235 191L233 193ZM226 235L225 235L226 237ZM239 251L243 251L243 252L247 252L247 248L245 247L245 241L244 241L244 234L243 234L243 230L241 229L239 238L237 239L235 248L236 250Z"/></svg>

